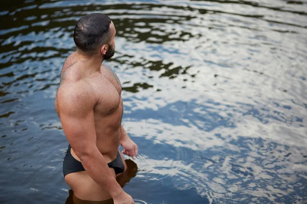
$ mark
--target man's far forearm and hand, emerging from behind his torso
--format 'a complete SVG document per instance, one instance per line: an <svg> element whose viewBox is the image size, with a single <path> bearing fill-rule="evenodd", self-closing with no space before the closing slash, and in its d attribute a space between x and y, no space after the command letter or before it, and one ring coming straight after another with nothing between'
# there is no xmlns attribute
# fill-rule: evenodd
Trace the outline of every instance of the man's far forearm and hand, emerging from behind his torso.
<svg viewBox="0 0 307 204"><path fill-rule="evenodd" d="M120 135L120 145L124 148L122 153L136 159L138 155L138 145L130 139L122 125Z"/></svg>

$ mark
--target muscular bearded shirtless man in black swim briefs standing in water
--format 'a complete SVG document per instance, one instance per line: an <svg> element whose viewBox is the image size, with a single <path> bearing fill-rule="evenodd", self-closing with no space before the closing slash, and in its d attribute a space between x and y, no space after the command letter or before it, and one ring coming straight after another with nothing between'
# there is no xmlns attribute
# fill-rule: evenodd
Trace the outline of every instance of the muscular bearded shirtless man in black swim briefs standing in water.
<svg viewBox="0 0 307 204"><path fill-rule="evenodd" d="M121 84L111 68L102 65L114 55L116 30L100 13L80 18L74 31L76 52L63 65L55 109L69 141L63 161L65 181L82 200L112 199L135 203L117 183L126 169L119 152L138 155L138 146L126 134L121 119Z"/></svg>

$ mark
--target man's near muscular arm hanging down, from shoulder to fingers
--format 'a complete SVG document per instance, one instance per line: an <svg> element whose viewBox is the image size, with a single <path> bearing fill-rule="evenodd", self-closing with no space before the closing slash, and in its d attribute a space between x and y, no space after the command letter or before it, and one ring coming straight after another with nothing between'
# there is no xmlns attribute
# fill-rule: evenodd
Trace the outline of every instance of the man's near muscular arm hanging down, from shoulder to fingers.
<svg viewBox="0 0 307 204"><path fill-rule="evenodd" d="M131 196L122 190L115 177L109 173L107 163L96 146L96 100L92 90L86 90L85 87L86 85L74 88L65 86L58 91L57 100L63 131L86 172L113 197L114 203L134 203Z"/></svg>

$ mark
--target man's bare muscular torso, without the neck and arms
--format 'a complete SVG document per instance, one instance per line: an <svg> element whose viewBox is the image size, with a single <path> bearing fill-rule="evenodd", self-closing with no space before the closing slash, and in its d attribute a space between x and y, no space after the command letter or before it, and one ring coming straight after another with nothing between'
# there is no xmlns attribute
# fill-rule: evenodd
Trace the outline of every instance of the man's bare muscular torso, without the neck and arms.
<svg viewBox="0 0 307 204"><path fill-rule="evenodd" d="M78 70L80 66L84 66L84 63L80 63L75 58L75 53L71 54L63 65L58 91L65 91L60 90L64 87L61 86L63 83L67 83L65 86L74 86L79 81L86 81L86 84L91 87L93 92L91 94L95 95L97 101L94 107L96 145L106 162L111 162L117 156L120 143L123 113L120 81L114 71L106 65L101 65L100 73L92 74L90 77L84 77L84 74ZM55 109L60 117L59 103L61 101L58 101L56 97ZM75 159L79 160L73 149L71 153Z"/></svg>

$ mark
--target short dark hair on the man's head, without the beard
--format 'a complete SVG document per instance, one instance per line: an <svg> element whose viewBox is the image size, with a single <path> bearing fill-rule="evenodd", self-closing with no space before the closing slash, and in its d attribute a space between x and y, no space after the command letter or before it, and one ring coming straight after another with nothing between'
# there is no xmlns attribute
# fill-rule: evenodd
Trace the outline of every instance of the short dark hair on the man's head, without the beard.
<svg viewBox="0 0 307 204"><path fill-rule="evenodd" d="M94 53L99 46L107 44L111 37L111 19L102 13L83 16L76 24L74 41L85 53Z"/></svg>

